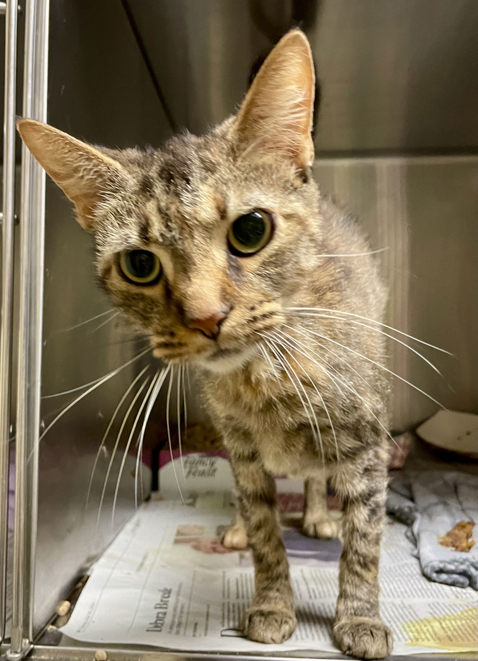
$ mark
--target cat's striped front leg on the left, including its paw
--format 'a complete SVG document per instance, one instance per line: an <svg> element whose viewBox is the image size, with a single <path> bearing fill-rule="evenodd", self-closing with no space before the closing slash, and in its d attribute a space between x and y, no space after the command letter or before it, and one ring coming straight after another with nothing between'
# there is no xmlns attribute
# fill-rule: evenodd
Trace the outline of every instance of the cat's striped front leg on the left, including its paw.
<svg viewBox="0 0 478 661"><path fill-rule="evenodd" d="M225 445L255 566L256 591L245 613L245 634L253 641L283 642L296 628L296 615L276 514L276 484L250 445L241 443L240 438L228 438Z"/></svg>

